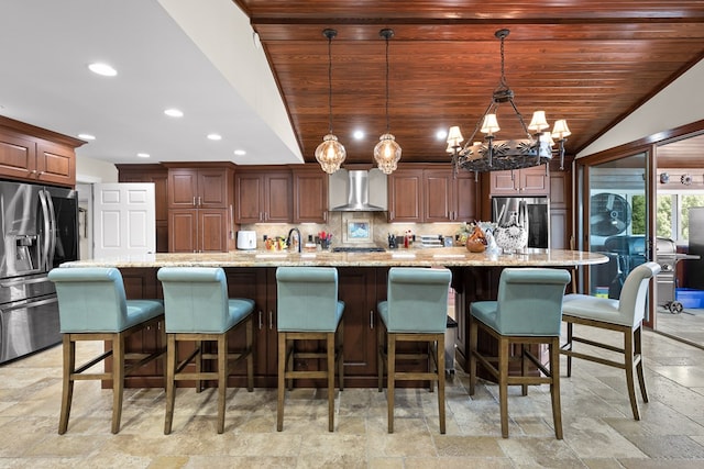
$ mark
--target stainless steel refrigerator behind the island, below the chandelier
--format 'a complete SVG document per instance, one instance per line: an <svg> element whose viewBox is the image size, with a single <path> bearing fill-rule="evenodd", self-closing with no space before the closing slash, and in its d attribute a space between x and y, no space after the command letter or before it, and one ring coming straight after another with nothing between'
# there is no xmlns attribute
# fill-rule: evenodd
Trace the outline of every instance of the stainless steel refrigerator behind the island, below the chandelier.
<svg viewBox="0 0 704 469"><path fill-rule="evenodd" d="M492 222L503 226L514 215L528 232L528 247L550 247L550 205L547 197L492 198Z"/></svg>

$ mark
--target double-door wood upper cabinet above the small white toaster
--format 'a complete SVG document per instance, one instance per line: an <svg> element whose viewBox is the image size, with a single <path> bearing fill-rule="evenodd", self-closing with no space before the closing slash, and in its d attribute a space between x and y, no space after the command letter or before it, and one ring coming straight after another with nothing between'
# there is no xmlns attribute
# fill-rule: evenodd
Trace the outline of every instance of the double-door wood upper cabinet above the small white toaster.
<svg viewBox="0 0 704 469"><path fill-rule="evenodd" d="M290 223L292 174L288 168L238 169L234 178L237 223Z"/></svg>

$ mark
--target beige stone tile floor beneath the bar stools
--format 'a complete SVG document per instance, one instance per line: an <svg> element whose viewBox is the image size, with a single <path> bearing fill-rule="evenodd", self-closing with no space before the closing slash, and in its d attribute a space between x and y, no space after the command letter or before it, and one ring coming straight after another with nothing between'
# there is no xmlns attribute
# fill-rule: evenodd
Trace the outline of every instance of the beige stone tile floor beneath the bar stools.
<svg viewBox="0 0 704 469"><path fill-rule="evenodd" d="M68 432L59 436L54 347L0 366L0 467L702 468L704 350L652 332L644 346L650 402L641 404L642 420L631 417L622 371L575 360L572 378L561 379L563 440L554 438L547 386L531 387L528 397L509 391L504 439L496 386L484 382L470 398L461 370L448 383L446 435L436 394L422 389L399 390L391 435L386 393L375 389L338 392L334 433L327 432L323 390L289 392L278 433L275 390L230 389L222 435L215 390L179 389L174 431L164 435L163 390L129 389L122 429L112 435L111 391L78 382Z"/></svg>

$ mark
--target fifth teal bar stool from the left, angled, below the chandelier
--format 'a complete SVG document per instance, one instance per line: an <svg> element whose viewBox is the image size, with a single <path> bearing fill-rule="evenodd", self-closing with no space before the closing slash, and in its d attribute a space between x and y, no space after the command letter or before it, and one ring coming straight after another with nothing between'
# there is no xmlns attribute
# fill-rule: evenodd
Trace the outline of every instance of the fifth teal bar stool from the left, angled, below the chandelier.
<svg viewBox="0 0 704 469"><path fill-rule="evenodd" d="M508 387L520 386L527 395L529 384L550 384L554 435L562 439L560 330L562 298L570 280L570 272L563 269L507 268L502 271L496 301L475 301L470 306L470 395L474 395L479 360L498 383L504 438L508 438ZM497 342L498 357L479 350L480 330ZM542 344L549 349L547 367L527 347ZM512 348L519 354L512 357ZM520 361L520 375L509 373L512 361ZM528 375L528 361L542 375Z"/></svg>

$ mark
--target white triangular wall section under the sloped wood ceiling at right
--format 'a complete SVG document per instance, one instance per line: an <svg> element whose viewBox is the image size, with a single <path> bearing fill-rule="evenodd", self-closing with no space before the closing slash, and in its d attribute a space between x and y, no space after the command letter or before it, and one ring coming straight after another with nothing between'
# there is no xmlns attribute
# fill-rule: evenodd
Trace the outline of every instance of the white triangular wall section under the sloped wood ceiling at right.
<svg viewBox="0 0 704 469"><path fill-rule="evenodd" d="M600 153L704 119L704 60L612 127L576 157Z"/></svg>

